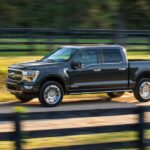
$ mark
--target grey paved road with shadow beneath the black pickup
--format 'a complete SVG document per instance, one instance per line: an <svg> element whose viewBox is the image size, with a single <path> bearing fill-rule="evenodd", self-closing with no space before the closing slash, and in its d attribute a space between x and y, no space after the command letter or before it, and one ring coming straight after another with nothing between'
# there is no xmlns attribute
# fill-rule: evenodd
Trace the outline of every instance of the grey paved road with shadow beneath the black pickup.
<svg viewBox="0 0 150 150"><path fill-rule="evenodd" d="M1 102L0 113L12 112L16 106L24 106L28 112L38 111L63 111L63 110L84 110L84 109L98 109L98 108L127 108L136 107L137 105L150 106L150 102L139 103L134 99L132 94L126 93L121 98L109 99L108 97L94 98L94 99L65 99L61 105L55 108L41 107L39 102L35 99L26 104L21 104L18 101Z"/></svg>

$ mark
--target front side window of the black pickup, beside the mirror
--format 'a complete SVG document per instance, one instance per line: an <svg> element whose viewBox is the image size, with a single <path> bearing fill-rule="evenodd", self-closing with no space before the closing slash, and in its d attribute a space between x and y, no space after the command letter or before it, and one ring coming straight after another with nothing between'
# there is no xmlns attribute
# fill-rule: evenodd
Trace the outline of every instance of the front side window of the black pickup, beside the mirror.
<svg viewBox="0 0 150 150"><path fill-rule="evenodd" d="M83 65L90 65L97 63L97 50L83 50L78 56L75 57L75 61L80 61Z"/></svg>

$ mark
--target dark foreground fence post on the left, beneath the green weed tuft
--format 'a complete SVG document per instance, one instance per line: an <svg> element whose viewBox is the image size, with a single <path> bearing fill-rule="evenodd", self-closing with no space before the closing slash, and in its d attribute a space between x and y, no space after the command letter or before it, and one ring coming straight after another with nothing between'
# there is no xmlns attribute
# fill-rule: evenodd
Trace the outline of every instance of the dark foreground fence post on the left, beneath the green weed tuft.
<svg viewBox="0 0 150 150"><path fill-rule="evenodd" d="M22 150L21 147L21 118L19 113L15 113L15 148L16 150Z"/></svg>

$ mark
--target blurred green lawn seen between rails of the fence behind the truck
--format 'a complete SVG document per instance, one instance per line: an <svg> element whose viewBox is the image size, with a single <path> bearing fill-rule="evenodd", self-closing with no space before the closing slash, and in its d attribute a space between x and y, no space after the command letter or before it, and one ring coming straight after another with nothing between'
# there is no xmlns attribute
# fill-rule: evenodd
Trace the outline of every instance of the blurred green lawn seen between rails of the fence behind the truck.
<svg viewBox="0 0 150 150"><path fill-rule="evenodd" d="M116 43L116 39L68 39L66 37L61 39L61 38L56 38L56 39L44 39L44 38L32 38L32 39L26 39L26 38L14 38L14 39L9 39L9 38L4 38L0 39L0 42L6 42L3 44L0 44L0 51L1 49L16 49L18 50L18 53L11 52L0 52L0 56L37 56L37 55L45 55L48 51L51 51L55 49L56 47L61 46L61 44L58 45L47 45L47 44L38 44L35 43L33 45L29 43L21 43L21 42L71 42L72 44L74 42L80 42L80 43L97 43L97 44L103 44L103 43ZM17 44L7 44L7 42L18 42ZM149 41L146 38L126 38L127 43L148 43ZM85 45L85 44L84 44ZM88 45L88 44L87 44ZM149 46L139 46L139 45L134 45L134 46L125 46L128 50L149 50ZM27 52L21 52L21 49L35 49L35 51L27 51Z"/></svg>

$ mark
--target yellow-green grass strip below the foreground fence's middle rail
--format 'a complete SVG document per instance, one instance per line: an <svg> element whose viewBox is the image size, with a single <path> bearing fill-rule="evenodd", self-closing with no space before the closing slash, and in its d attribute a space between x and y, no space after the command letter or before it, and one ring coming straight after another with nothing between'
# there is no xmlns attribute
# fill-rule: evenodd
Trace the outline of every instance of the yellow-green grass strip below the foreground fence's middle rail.
<svg viewBox="0 0 150 150"><path fill-rule="evenodd" d="M131 141L137 140L136 132L117 132L117 133L103 133L103 134L83 134L75 136L63 137L48 137L35 138L25 140L24 149L43 148L43 147L61 147L71 145L84 145L103 142L117 142L117 141ZM13 147L12 142L0 142L0 149L9 149Z"/></svg>

